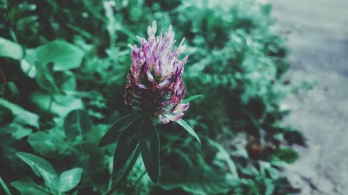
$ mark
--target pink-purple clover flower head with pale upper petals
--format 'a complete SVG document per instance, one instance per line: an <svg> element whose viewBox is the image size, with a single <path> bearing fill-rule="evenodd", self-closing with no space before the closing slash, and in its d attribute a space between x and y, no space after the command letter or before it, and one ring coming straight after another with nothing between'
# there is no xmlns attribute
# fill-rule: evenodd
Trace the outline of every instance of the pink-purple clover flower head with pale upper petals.
<svg viewBox="0 0 348 195"><path fill-rule="evenodd" d="M148 40L137 36L141 47L132 48L132 67L125 85L125 104L132 110L159 117L162 123L182 118L189 103L181 103L184 95L182 73L188 56L179 60L186 49L184 38L178 47L175 43L173 27L156 37L156 22L148 26Z"/></svg>

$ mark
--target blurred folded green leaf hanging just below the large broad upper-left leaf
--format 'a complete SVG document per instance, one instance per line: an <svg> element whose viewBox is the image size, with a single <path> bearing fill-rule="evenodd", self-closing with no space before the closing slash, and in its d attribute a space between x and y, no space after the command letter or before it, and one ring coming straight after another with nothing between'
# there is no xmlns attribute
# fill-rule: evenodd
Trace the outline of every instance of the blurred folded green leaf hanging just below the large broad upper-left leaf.
<svg viewBox="0 0 348 195"><path fill-rule="evenodd" d="M43 64L42 62L35 61L35 68L37 71L36 82L43 89L50 94L58 94L60 90L58 89L53 77L54 64L48 62Z"/></svg>

